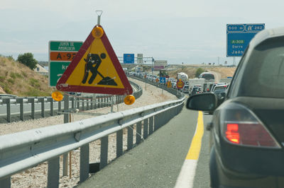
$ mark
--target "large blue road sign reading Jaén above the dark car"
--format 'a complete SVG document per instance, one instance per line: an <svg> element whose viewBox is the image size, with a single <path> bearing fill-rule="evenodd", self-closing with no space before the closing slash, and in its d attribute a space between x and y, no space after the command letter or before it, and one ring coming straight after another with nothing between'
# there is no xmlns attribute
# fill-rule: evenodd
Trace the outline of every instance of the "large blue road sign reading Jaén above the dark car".
<svg viewBox="0 0 284 188"><path fill-rule="evenodd" d="M254 35L264 28L265 23L227 24L226 57L241 57Z"/></svg>

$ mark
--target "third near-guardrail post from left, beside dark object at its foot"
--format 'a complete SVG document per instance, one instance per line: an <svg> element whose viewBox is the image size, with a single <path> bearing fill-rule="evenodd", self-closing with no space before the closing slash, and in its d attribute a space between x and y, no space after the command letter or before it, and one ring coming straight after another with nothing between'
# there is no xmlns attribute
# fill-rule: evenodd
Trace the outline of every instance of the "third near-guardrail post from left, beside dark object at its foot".
<svg viewBox="0 0 284 188"><path fill-rule="evenodd" d="M80 183L89 177L89 143L80 148Z"/></svg>

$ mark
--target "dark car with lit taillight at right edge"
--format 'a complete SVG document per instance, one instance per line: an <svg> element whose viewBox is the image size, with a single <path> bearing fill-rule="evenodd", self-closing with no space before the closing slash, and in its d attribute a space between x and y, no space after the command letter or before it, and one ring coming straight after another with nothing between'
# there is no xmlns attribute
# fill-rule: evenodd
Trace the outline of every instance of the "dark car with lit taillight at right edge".
<svg viewBox="0 0 284 188"><path fill-rule="evenodd" d="M284 187L284 28L251 40L218 101L213 93L187 100L189 109L214 111L212 187Z"/></svg>

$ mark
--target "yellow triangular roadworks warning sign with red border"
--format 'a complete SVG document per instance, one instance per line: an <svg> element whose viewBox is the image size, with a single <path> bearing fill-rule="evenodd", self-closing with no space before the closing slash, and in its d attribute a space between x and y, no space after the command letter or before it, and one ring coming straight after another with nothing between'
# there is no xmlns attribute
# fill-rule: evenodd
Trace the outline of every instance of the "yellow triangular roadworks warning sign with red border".
<svg viewBox="0 0 284 188"><path fill-rule="evenodd" d="M94 26L56 88L82 93L132 94L129 80L101 25Z"/></svg>

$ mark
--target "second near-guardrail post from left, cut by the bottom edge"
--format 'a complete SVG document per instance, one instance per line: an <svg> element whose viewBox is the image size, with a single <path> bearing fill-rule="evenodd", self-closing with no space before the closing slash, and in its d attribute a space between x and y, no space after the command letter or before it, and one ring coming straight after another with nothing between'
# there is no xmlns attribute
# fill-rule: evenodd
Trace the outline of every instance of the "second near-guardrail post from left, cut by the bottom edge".
<svg viewBox="0 0 284 188"><path fill-rule="evenodd" d="M48 187L59 187L59 157L48 160Z"/></svg>

